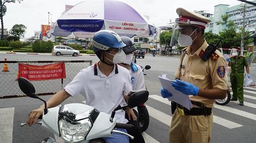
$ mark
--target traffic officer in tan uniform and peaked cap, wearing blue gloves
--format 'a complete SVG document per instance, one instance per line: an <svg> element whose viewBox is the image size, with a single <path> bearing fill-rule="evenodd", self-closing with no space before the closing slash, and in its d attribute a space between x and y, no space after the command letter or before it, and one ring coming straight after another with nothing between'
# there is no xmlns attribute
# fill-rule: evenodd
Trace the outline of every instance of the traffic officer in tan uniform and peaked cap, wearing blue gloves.
<svg viewBox="0 0 256 143"><path fill-rule="evenodd" d="M226 63L218 50L210 54L206 61L201 59L208 47L203 33L210 19L183 8L178 8L176 12L179 15L175 20L178 24L175 30L180 32L178 42L186 48L183 49L172 86L189 96L193 108L188 110L180 104L175 105L169 142L210 142L211 109L215 99L226 97ZM163 98L172 96L165 89L161 90L161 95Z"/></svg>

